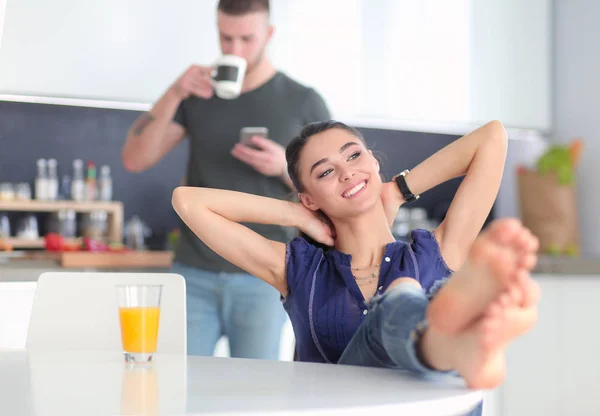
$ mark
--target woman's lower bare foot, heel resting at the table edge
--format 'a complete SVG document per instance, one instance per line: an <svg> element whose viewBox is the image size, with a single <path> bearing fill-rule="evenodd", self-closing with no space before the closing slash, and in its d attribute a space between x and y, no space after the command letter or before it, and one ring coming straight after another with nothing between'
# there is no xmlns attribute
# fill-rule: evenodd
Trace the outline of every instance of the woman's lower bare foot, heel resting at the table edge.
<svg viewBox="0 0 600 416"><path fill-rule="evenodd" d="M425 361L439 370L455 370L475 389L491 389L504 380L504 349L537 321L539 287L530 278L519 279L492 302L464 331L447 335L434 328L421 342ZM525 305L526 302L533 302Z"/></svg>

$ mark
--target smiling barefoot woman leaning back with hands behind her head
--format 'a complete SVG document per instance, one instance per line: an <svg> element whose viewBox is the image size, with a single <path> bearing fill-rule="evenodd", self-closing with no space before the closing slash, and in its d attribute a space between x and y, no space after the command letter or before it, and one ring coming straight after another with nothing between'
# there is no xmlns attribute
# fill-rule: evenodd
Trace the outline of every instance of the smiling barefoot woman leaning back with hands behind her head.
<svg viewBox="0 0 600 416"><path fill-rule="evenodd" d="M528 278L537 246L527 230L499 221L474 244L506 147L494 121L383 184L357 130L313 123L286 151L300 203L179 187L173 206L211 249L279 290L301 361L453 370L471 387L490 388L503 377L504 345L533 325L537 302ZM435 231L415 230L411 244L394 240L390 223L405 198L461 175ZM296 227L332 248L303 237L270 241L242 222ZM461 268L429 304L427 295Z"/></svg>

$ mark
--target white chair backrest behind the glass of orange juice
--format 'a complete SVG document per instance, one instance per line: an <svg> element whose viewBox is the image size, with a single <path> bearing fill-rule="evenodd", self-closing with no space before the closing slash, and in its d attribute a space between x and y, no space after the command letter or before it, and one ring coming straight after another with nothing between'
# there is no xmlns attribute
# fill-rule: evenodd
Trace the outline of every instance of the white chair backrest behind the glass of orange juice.
<svg viewBox="0 0 600 416"><path fill-rule="evenodd" d="M163 285L157 352L185 354L185 281L174 273L43 273L37 282L26 348L122 351L119 284Z"/></svg>

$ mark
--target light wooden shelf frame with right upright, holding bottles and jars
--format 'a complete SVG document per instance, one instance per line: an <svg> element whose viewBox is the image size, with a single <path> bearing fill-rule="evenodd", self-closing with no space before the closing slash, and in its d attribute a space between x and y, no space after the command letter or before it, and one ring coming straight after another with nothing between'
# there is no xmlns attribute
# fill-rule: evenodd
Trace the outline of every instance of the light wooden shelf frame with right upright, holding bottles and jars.
<svg viewBox="0 0 600 416"><path fill-rule="evenodd" d="M0 201L0 211L16 212L75 212L105 211L108 216L108 239L111 242L123 240L123 203L120 201ZM44 240L8 239L15 248L43 248ZM22 245L24 244L24 245Z"/></svg>

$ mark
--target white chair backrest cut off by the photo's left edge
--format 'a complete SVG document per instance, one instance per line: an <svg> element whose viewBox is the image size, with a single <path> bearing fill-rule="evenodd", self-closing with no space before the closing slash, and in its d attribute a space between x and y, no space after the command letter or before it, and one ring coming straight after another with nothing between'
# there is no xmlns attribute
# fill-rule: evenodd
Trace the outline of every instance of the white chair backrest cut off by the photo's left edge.
<svg viewBox="0 0 600 416"><path fill-rule="evenodd" d="M35 282L0 282L0 348L25 348Z"/></svg>

